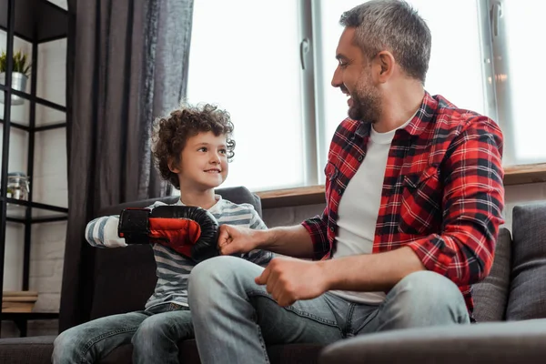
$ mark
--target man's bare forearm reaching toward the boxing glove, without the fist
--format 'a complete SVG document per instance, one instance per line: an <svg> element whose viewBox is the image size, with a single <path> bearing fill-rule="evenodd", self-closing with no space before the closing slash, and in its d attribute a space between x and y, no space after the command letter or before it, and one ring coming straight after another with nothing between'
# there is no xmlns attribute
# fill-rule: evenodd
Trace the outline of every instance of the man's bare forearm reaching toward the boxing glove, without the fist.
<svg viewBox="0 0 546 364"><path fill-rule="evenodd" d="M295 258L313 258L313 241L307 229L295 227L274 227L256 231L258 248Z"/></svg>

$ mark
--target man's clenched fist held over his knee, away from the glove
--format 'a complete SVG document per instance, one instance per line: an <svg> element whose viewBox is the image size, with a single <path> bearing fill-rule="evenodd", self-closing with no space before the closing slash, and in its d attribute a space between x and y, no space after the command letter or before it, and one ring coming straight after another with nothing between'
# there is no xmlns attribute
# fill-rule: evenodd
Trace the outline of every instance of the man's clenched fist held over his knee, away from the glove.
<svg viewBox="0 0 546 364"><path fill-rule="evenodd" d="M255 281L267 286L278 306L286 307L298 299L317 298L329 290L328 276L321 263L274 258Z"/></svg>

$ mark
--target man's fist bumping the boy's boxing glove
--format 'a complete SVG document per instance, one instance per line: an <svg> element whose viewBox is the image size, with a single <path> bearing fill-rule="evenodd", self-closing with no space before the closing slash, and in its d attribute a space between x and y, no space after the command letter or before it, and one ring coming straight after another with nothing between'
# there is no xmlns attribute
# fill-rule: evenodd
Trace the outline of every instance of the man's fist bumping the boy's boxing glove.
<svg viewBox="0 0 546 364"><path fill-rule="evenodd" d="M258 246L257 233L248 227L220 225L218 233L218 250L220 255L229 256L236 253L248 253Z"/></svg>

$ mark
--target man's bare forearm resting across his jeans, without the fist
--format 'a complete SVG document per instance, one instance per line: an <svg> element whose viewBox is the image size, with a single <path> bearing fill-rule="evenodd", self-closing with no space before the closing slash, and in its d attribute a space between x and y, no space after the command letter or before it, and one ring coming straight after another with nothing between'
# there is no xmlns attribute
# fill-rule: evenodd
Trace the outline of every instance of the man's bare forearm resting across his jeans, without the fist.
<svg viewBox="0 0 546 364"><path fill-rule="evenodd" d="M389 290L410 273L425 269L420 258L408 247L388 253L330 259L317 264L322 266L329 279L329 289L362 292Z"/></svg>

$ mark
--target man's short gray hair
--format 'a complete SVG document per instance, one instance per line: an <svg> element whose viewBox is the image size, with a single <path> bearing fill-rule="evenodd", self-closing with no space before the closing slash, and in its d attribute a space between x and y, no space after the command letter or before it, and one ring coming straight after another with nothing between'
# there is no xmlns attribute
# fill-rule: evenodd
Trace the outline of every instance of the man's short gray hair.
<svg viewBox="0 0 546 364"><path fill-rule="evenodd" d="M372 58L388 50L411 77L423 85L429 69L429 26L402 0L371 0L343 13L339 24L356 28L355 43Z"/></svg>

